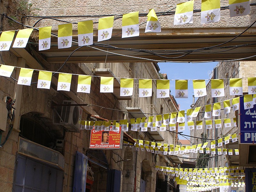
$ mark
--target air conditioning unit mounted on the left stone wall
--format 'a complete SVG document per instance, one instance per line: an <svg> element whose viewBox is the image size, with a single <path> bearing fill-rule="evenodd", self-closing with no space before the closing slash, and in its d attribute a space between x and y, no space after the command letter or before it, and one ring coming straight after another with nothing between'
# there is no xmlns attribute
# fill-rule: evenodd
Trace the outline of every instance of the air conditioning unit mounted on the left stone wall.
<svg viewBox="0 0 256 192"><path fill-rule="evenodd" d="M75 101L63 100L63 104L77 104ZM79 106L62 106L60 124L69 132L80 132L83 109Z"/></svg>

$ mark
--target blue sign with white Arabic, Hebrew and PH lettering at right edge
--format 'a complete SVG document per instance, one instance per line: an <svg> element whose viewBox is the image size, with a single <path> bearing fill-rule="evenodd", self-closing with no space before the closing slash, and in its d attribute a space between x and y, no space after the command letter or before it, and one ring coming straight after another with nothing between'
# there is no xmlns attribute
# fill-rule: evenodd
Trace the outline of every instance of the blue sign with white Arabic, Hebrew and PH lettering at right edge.
<svg viewBox="0 0 256 192"><path fill-rule="evenodd" d="M256 143L256 105L244 109L244 97L240 97L239 111L240 143Z"/></svg>

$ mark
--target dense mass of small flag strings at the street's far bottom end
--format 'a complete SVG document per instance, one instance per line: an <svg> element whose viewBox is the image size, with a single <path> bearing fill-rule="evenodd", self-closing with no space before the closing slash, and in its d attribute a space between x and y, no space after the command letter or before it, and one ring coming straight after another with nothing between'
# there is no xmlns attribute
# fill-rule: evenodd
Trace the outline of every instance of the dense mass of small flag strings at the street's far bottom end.
<svg viewBox="0 0 256 192"><path fill-rule="evenodd" d="M175 168L156 165L156 171L175 177L174 181L187 185L189 192L245 185L244 167Z"/></svg>

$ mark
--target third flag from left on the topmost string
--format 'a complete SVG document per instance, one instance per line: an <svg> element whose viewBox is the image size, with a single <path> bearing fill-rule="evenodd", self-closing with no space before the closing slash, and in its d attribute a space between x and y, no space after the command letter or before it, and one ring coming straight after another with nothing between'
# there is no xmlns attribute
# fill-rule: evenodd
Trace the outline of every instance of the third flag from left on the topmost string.
<svg viewBox="0 0 256 192"><path fill-rule="evenodd" d="M39 42L38 42L39 51L47 50L51 48L51 31L52 31L52 26L39 28Z"/></svg>

